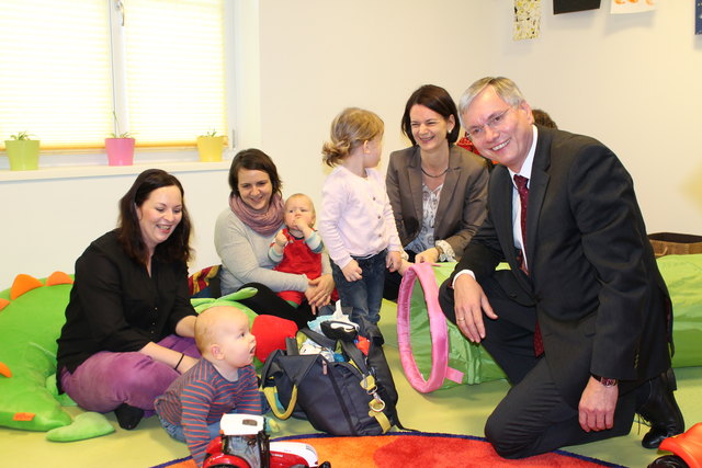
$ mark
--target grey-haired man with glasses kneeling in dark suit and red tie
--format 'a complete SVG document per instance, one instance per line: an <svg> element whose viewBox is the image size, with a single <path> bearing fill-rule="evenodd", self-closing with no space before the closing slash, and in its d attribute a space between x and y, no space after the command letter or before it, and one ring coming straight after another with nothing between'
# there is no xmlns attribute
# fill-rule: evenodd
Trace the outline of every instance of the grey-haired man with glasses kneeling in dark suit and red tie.
<svg viewBox="0 0 702 468"><path fill-rule="evenodd" d="M627 434L635 413L652 424L645 447L683 432L670 299L622 163L592 138L533 125L506 78L476 81L460 113L500 163L488 217L440 290L446 317L512 384L488 441L528 457Z"/></svg>

